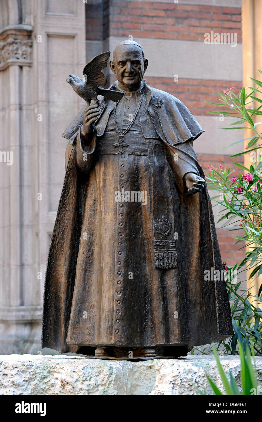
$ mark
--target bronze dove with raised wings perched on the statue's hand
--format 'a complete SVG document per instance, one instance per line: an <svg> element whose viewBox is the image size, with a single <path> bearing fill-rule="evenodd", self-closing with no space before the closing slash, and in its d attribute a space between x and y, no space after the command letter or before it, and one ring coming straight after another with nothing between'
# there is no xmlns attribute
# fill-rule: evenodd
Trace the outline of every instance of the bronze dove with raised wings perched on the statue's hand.
<svg viewBox="0 0 262 422"><path fill-rule="evenodd" d="M110 51L99 54L98 56L91 59L86 66L83 68L83 75L85 81L76 75L69 75L67 82L71 85L74 91L83 98L87 103L90 100L99 106L99 100L97 95L103 95L112 101L119 101L123 97L123 92L112 91L111 89L104 89L104 85L107 83L107 78L101 71L107 66L107 60L109 59Z"/></svg>

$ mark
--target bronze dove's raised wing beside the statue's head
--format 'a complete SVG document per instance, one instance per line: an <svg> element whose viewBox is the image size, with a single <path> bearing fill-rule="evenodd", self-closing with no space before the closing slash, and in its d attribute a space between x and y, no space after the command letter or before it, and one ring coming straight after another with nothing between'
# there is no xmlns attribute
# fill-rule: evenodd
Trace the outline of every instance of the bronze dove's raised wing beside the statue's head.
<svg viewBox="0 0 262 422"><path fill-rule="evenodd" d="M96 89L97 87L104 87L107 83L107 78L104 73L101 72L107 66L107 60L109 59L110 51L99 54L90 60L83 68L83 75L86 79L86 84L91 85Z"/></svg>

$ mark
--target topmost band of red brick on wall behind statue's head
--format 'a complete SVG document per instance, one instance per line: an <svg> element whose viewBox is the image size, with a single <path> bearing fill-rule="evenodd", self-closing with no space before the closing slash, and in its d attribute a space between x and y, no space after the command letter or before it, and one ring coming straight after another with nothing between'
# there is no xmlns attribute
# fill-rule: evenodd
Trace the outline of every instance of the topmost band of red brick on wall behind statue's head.
<svg viewBox="0 0 262 422"><path fill-rule="evenodd" d="M110 35L203 41L204 33L234 32L241 42L241 9L111 1Z"/></svg>

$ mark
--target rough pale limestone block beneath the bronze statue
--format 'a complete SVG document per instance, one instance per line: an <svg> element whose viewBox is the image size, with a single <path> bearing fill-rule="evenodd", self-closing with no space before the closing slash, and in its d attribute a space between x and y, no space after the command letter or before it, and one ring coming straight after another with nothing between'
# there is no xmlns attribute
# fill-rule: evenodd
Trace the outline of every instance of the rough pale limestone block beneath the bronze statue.
<svg viewBox="0 0 262 422"><path fill-rule="evenodd" d="M256 357L262 372L262 357ZM222 357L227 376L241 385L238 356ZM213 356L139 362L77 356L12 354L0 356L0 394L212 394L205 373L223 390ZM262 385L262 375L258 375Z"/></svg>

